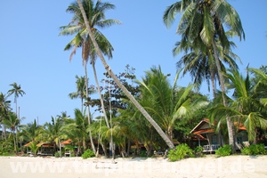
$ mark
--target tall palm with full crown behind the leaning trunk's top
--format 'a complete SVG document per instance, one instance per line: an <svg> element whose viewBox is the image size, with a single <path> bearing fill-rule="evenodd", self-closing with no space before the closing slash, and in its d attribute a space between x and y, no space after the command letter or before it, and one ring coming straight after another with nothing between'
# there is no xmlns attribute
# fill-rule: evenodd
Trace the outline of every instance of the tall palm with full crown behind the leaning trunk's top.
<svg viewBox="0 0 267 178"><path fill-rule="evenodd" d="M99 28L105 28L109 27L115 23L120 23L119 20L106 20L104 12L109 9L114 9L113 4L109 3L101 3L101 1L97 1L96 4L94 4L93 0L84 0L83 6L85 8L85 14L87 15L88 20L90 20L91 27L93 30L93 36L95 36L95 39L99 46L101 46L101 53L104 53L109 58L112 57L111 52L113 51L112 45L109 43L108 39L101 34ZM78 7L77 3L73 3L69 5L67 12L74 13L74 17L70 24L68 26L61 27L62 31L60 35L73 35L76 34L74 39L67 44L66 50L70 49L70 47L74 47L73 53L76 52L77 47L82 46L82 55L83 55L83 61L84 65L86 67L86 63L89 59L89 56L91 57L91 64L93 66L93 73L96 85L98 86L98 92L100 94L101 99L101 106L102 111L105 116L106 124L109 126L108 117L106 116L106 111L104 109L104 104L101 97L101 91L100 86L98 83L96 70L95 70L95 52L94 52L94 45L91 42L90 37L88 36L87 29L85 27L85 20L83 19L82 13L80 11L80 8ZM72 53L72 54L73 54ZM71 56L72 56L71 54ZM85 80L87 79L87 71L85 68ZM87 80L86 80L87 81ZM88 87L88 82L86 82L86 86ZM88 91L86 87L86 98L88 98ZM87 105L88 110L88 117L90 115L89 113L89 106ZM88 118L89 119L89 118ZM94 150L94 149L93 149Z"/></svg>

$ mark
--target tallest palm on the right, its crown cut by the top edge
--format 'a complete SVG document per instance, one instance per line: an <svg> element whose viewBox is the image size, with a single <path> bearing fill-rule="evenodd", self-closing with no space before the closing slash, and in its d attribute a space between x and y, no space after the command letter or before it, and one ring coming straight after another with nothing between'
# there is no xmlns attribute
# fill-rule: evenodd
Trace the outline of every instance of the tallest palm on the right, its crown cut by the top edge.
<svg viewBox="0 0 267 178"><path fill-rule="evenodd" d="M198 44L201 41L212 50L223 92L223 105L226 107L224 77L216 41L221 43L223 50L231 49L231 44L225 34L225 27L230 28L231 36L238 36L240 40L245 38L238 12L224 0L182 0L166 8L163 20L167 27L174 22L177 12L183 12L176 31L177 34L182 35L182 43ZM235 150L235 132L230 118L227 118L227 127L229 143Z"/></svg>

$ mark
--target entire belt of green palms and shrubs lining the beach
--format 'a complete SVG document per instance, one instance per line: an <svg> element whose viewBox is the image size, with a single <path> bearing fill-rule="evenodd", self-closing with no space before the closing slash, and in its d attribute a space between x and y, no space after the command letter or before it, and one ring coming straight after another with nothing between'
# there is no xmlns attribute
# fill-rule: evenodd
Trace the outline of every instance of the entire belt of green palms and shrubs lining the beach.
<svg viewBox="0 0 267 178"><path fill-rule="evenodd" d="M190 131L203 118L209 118L217 132L223 134L226 144L216 151L217 155L227 156L236 150L239 125L246 128L250 143L241 153L266 154L267 67L247 67L245 76L239 71L236 61L240 59L232 52L235 44L231 38L238 36L241 40L245 33L231 4L223 0L182 0L168 6L163 15L167 27L174 22L176 13L182 12L177 28L182 39L175 44L173 53L184 55L177 61L176 74L165 74L160 66L152 66L141 79L135 77L135 69L129 65L115 75L103 57L112 58L114 49L100 29L121 23L106 19L105 12L114 8L114 4L101 0L77 0L67 8L73 17L61 27L60 35L74 37L64 50L73 50L71 60L81 48L85 67L85 76L76 76L77 90L66 96L81 100L80 106L73 109L74 117L63 111L48 118L50 122L44 125L33 118L32 123L23 125L18 98L26 93L21 86L12 83L12 89L0 93L0 155L24 152L36 156L50 151L57 157L70 152L71 156L83 158L99 154L115 158L116 154L149 157L159 151L176 161L201 154L203 148ZM98 58L107 70L101 80L104 86L99 85L96 76ZM88 61L95 79L95 85L90 86ZM188 72L192 82L180 85L181 74ZM174 81L170 80L171 75L175 76ZM212 99L198 91L204 81L208 88L212 86ZM91 95L96 92L99 97L93 99ZM92 109L100 116L93 116Z"/></svg>

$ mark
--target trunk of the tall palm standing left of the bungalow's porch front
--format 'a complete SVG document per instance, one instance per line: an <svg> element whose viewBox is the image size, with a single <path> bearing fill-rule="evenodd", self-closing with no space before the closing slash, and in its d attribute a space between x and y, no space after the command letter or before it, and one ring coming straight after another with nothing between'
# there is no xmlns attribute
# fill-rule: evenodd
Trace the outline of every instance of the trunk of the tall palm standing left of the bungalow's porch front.
<svg viewBox="0 0 267 178"><path fill-rule="evenodd" d="M219 57L218 57L218 54L217 54L217 47L216 47L216 44L214 43L214 40L213 40L212 44L213 44L213 48L214 48L215 62L216 62L216 66L217 66L217 69L218 69L219 80L220 80L220 83L221 83L221 89L222 89L222 92L223 92L223 105L224 105L224 107L227 107L227 101L226 101L226 98L225 98L225 86L224 86L224 81L223 81L223 75L221 73L222 69L221 69ZM235 146L235 130L234 130L234 125L231 122L230 117L226 116L226 123L227 123L227 128L228 128L229 144L231 145L232 150L235 152L235 150L236 150L236 146Z"/></svg>

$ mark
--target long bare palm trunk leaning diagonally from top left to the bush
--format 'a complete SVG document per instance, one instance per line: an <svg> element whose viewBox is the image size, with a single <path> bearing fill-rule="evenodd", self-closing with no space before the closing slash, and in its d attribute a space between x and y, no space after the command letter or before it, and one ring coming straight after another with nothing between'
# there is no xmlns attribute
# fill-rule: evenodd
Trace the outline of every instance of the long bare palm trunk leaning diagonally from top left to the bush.
<svg viewBox="0 0 267 178"><path fill-rule="evenodd" d="M134 99L134 96L131 93L129 93L129 91L125 88L125 86L118 80L118 78L113 73L113 71L111 69L109 69L109 65L105 61L105 59L104 59L104 57L103 57L103 55L101 53L101 50L100 50L98 44L96 43L96 41L95 41L95 39L93 37L93 33L91 31L91 28L90 28L90 25L88 23L87 17L85 15L84 7L83 7L83 5L82 5L82 3L81 3L80 0L77 0L77 3L79 5L79 7L80 7L80 10L81 10L82 14L83 14L83 17L84 17L84 20L85 20L85 25L86 25L86 28L88 30L88 34L89 34L91 40L93 41L93 45L94 45L94 47L96 49L96 53L100 57L101 62L103 64L104 68L109 72L109 76L112 77L112 79L116 82L116 84L118 85L118 87L121 88L122 91L125 93L125 95L130 99L130 101L132 101L134 103L134 106L141 111L142 115L148 119L148 121L150 122L150 124L156 129L156 131L158 132L158 134L166 142L166 144L168 145L168 147L170 149L174 149L174 143L166 136L166 134L164 134L164 132L159 127L159 125L155 122L155 120L152 117L150 117L149 113L145 109L142 108L141 104Z"/></svg>

